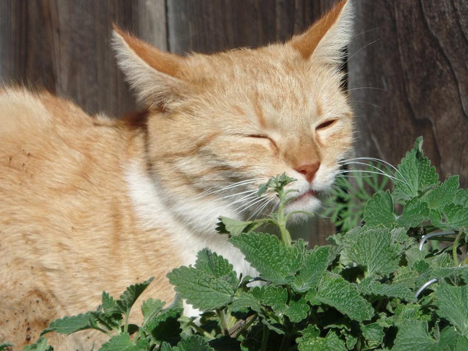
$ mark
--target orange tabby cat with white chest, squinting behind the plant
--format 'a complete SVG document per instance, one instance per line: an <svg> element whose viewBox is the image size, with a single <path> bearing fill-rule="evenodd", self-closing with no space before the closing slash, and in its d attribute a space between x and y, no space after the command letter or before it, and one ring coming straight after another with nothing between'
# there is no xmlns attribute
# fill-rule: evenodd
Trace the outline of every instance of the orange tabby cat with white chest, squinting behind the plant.
<svg viewBox="0 0 468 351"><path fill-rule="evenodd" d="M148 104L116 122L2 90L0 341L20 349L51 320L96 308L103 290L153 275L142 298L171 301L166 273L206 246L249 273L216 218L272 211L276 199L254 193L285 171L298 178L289 210L317 208L351 147L339 67L350 36L346 0L286 43L213 55L164 53L116 28L119 66ZM89 350L96 335L48 339Z"/></svg>

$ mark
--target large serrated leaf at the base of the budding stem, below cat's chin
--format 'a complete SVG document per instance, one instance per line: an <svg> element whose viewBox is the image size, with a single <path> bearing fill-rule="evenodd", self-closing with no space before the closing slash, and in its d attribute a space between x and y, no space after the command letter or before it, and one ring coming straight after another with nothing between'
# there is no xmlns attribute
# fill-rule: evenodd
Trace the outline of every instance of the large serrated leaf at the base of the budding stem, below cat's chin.
<svg viewBox="0 0 468 351"><path fill-rule="evenodd" d="M286 246L276 236L263 233L239 234L229 239L240 249L245 259L274 285L286 284L301 268L302 251L297 246Z"/></svg>

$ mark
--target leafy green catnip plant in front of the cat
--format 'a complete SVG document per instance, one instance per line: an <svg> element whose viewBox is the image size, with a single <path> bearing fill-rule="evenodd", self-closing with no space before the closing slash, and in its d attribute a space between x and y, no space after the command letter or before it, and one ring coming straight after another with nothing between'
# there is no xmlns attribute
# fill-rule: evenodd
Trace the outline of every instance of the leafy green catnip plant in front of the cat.
<svg viewBox="0 0 468 351"><path fill-rule="evenodd" d="M294 179L271 178L258 195L275 193L276 213L247 222L220 217L217 228L258 276L237 274L204 249L193 266L167 275L177 292L171 305L142 303L141 325L128 316L152 278L117 299L103 292L97 310L53 321L23 350L50 351L49 332L86 329L109 336L102 351L468 350L468 189L458 176L440 182L422 144L418 138L395 169L392 191L373 183L362 222L353 218L355 226L331 235L330 245L292 241L287 222L295 214L285 207ZM264 224L276 226L279 238L258 231ZM446 245L431 244L439 241ZM202 312L199 320L182 315L182 299Z"/></svg>

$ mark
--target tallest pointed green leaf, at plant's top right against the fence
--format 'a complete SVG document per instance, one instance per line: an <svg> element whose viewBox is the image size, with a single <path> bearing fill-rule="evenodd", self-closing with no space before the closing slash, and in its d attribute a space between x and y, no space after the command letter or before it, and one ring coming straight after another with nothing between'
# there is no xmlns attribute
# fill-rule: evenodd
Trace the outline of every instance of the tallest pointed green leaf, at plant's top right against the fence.
<svg viewBox="0 0 468 351"><path fill-rule="evenodd" d="M398 165L398 172L393 181L393 195L410 200L424 194L429 188L438 184L439 176L435 167L430 165L429 158L424 156L423 138L418 137L414 143L414 148L406 153L406 156Z"/></svg>

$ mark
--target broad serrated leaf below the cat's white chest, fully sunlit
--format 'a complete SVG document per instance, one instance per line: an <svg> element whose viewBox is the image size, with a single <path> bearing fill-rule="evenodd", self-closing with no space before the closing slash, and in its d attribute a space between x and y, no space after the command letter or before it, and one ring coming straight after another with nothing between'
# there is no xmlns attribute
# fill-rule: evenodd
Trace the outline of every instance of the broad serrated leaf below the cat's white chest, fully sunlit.
<svg viewBox="0 0 468 351"><path fill-rule="evenodd" d="M176 292L201 311L226 306L234 297L235 287L231 282L215 278L193 267L176 268L168 273L167 277Z"/></svg>

